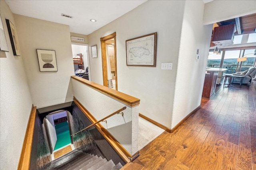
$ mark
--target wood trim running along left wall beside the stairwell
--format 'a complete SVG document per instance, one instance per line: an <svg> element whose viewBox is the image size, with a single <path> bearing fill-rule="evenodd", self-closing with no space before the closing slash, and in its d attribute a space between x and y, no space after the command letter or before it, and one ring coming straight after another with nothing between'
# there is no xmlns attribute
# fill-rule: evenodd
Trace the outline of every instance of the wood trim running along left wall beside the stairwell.
<svg viewBox="0 0 256 170"><path fill-rule="evenodd" d="M28 170L30 166L30 156L34 135L34 125L36 119L36 106L32 104L32 108L30 111L30 116L28 119L28 125L22 145L22 150L20 153L20 160L18 164L18 170Z"/></svg>

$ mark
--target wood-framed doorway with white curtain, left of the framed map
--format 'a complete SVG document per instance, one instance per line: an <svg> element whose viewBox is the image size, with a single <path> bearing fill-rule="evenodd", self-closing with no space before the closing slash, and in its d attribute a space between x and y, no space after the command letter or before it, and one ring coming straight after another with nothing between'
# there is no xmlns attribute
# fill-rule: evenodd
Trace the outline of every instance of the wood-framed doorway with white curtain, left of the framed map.
<svg viewBox="0 0 256 170"><path fill-rule="evenodd" d="M116 67L116 32L100 38L103 85L118 90Z"/></svg>

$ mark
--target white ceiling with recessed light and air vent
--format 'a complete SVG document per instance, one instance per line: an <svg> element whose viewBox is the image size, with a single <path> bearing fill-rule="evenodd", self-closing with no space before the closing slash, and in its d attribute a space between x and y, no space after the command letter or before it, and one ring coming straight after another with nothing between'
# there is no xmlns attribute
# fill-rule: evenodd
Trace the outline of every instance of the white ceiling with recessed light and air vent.
<svg viewBox="0 0 256 170"><path fill-rule="evenodd" d="M147 0L5 0L14 14L62 23L88 35ZM203 0L204 3L213 0ZM73 18L61 16L66 14ZM91 22L90 19L97 20Z"/></svg>

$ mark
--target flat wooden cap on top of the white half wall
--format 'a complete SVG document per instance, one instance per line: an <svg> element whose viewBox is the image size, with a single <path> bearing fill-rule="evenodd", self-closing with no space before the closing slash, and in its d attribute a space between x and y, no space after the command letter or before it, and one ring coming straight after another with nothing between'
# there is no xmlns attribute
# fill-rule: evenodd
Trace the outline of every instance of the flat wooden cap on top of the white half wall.
<svg viewBox="0 0 256 170"><path fill-rule="evenodd" d="M106 94L107 96L110 96L112 98L115 98L116 100L128 105L128 106L137 106L140 104L140 99L134 98L133 96L130 96L128 94L124 94L122 92L118 92L116 90L113 90L111 88L108 88L106 86L102 86L100 84L97 84L95 82L91 82L89 80L86 80L84 78L78 77L78 76L71 76L74 80L77 80L103 94Z"/></svg>

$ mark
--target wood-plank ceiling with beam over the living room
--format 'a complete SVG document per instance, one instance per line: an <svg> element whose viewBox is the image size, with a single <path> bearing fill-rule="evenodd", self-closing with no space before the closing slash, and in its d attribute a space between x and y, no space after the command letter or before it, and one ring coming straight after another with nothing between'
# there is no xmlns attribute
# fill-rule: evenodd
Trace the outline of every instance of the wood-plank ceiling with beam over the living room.
<svg viewBox="0 0 256 170"><path fill-rule="evenodd" d="M255 31L256 31L256 14L251 14L248 16L242 16L242 17L231 19L231 20L214 23L213 27L228 25L228 24L232 24L232 23L236 24L235 35L255 33Z"/></svg>

